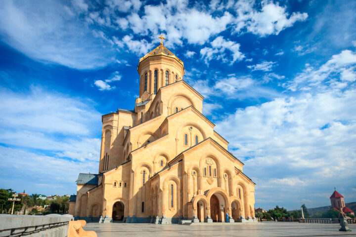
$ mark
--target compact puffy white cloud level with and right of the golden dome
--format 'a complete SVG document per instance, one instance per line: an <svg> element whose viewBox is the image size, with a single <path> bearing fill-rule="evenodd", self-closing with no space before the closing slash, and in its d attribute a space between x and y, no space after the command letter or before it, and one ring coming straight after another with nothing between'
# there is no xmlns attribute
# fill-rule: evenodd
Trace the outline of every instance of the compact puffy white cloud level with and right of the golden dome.
<svg viewBox="0 0 356 237"><path fill-rule="evenodd" d="M232 60L228 59L226 51L232 56ZM204 59L206 64L212 59L222 60L225 63L232 65L237 60L242 60L245 55L240 52L240 44L230 40L224 40L222 36L217 37L211 42L211 47L200 49L200 57Z"/></svg>

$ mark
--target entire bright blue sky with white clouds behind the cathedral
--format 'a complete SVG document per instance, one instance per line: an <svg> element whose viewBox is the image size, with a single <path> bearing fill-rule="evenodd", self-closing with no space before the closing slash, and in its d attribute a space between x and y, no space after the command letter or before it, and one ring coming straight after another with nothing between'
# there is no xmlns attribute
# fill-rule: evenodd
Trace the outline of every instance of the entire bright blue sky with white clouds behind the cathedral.
<svg viewBox="0 0 356 237"><path fill-rule="evenodd" d="M255 207L356 201L356 1L5 1L0 183L73 194L96 173L101 115L133 109L164 44L256 182Z"/></svg>

